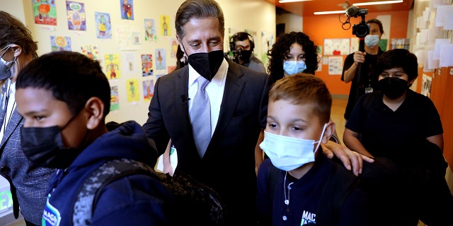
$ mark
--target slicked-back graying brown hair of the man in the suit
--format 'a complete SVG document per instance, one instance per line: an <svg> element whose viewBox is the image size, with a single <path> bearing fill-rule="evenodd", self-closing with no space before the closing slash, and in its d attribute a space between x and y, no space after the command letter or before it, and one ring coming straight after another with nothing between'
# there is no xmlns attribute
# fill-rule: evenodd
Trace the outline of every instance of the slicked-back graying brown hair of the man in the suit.
<svg viewBox="0 0 453 226"><path fill-rule="evenodd" d="M184 25L192 18L219 19L219 31L222 37L225 35L225 18L222 8L214 0L187 0L184 1L176 12L175 28L176 35L182 40L185 35Z"/></svg>

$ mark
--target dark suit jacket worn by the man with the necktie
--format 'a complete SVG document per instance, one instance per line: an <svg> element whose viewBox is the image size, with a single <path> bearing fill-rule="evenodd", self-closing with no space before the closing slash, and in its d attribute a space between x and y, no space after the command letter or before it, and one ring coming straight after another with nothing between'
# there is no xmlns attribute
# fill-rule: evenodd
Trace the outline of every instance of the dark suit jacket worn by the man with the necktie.
<svg viewBox="0 0 453 226"><path fill-rule="evenodd" d="M219 120L203 159L197 153L188 113L188 66L162 76L154 86L144 129L159 154L171 138L178 152L176 172L182 170L211 186L234 218L251 218L255 209L254 149L265 128L271 79L228 61Z"/></svg>

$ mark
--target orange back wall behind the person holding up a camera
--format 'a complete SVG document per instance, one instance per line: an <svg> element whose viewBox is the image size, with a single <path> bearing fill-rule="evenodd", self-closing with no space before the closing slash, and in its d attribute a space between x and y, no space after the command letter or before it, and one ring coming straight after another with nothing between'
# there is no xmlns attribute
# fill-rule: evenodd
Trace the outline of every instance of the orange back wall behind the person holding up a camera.
<svg viewBox="0 0 453 226"><path fill-rule="evenodd" d="M365 16L365 20L376 18L379 15L391 15L389 39L407 37L409 11L394 11L379 14L369 12ZM303 32L309 35L310 39L313 40L316 45L323 46L323 40L325 38L355 37L355 35L352 35L352 25L360 23L360 20L360 17L350 18L351 28L349 30L343 30L343 28L341 28L342 23L338 19L338 14L304 16ZM388 42L390 42L390 40ZM343 61L345 58L346 56L343 56ZM316 71L316 76L323 79L333 95L349 95L351 83L344 83L341 81L341 75L329 76L328 65L323 65L322 71Z"/></svg>

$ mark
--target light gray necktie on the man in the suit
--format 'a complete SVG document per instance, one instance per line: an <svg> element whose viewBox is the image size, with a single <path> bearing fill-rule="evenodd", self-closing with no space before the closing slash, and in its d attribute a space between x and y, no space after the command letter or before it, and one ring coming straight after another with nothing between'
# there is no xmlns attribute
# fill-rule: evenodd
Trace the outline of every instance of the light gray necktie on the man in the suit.
<svg viewBox="0 0 453 226"><path fill-rule="evenodd" d="M210 81L200 76L197 78L197 83L198 90L193 98L192 105L192 129L198 154L203 157L207 145L211 141L211 104L210 97L207 96L205 91L206 85Z"/></svg>

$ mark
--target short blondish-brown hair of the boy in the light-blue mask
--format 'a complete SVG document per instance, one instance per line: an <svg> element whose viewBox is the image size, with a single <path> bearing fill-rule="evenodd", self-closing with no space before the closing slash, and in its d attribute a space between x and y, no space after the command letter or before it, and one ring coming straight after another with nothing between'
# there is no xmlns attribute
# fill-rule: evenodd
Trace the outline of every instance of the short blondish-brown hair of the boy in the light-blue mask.
<svg viewBox="0 0 453 226"><path fill-rule="evenodd" d="M269 91L269 102L289 100L294 105L312 104L321 123L331 119L332 96L321 78L297 73L278 80Z"/></svg>

